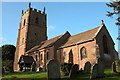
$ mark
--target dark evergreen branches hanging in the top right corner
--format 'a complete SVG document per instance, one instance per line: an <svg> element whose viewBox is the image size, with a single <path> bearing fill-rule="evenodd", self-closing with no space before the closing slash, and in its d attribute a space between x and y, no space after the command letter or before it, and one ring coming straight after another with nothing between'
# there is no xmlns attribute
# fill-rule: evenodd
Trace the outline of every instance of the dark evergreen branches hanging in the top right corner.
<svg viewBox="0 0 120 80"><path fill-rule="evenodd" d="M112 1L106 4L108 7L113 8L113 12L107 11L108 17L113 17L113 15L118 15L116 18L116 25L120 25L120 1Z"/></svg>

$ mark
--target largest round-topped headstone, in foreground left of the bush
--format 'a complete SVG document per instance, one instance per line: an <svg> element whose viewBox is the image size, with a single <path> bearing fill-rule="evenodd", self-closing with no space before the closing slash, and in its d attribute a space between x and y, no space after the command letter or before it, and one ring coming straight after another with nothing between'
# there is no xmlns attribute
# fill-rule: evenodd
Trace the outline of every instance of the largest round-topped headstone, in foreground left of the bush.
<svg viewBox="0 0 120 80"><path fill-rule="evenodd" d="M60 64L56 60L50 60L47 63L48 80L60 78Z"/></svg>

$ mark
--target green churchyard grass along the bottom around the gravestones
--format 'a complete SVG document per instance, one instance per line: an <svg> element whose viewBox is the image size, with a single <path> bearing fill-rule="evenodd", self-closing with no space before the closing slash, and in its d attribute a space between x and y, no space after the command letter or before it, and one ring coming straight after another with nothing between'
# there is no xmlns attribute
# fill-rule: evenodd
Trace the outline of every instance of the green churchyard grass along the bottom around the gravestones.
<svg viewBox="0 0 120 80"><path fill-rule="evenodd" d="M75 78L61 76L62 80L89 80L90 74L79 74ZM6 72L2 80L47 80L47 72ZM105 70L105 77L95 80L120 80L120 74L112 73L110 69Z"/></svg>

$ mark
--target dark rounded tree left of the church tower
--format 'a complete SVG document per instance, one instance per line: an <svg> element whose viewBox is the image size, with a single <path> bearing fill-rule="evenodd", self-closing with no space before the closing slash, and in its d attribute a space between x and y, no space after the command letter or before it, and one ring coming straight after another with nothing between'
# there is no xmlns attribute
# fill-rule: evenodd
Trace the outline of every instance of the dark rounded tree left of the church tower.
<svg viewBox="0 0 120 80"><path fill-rule="evenodd" d="M14 45L3 45L2 47L2 67L5 70L13 71L13 62L15 54Z"/></svg>

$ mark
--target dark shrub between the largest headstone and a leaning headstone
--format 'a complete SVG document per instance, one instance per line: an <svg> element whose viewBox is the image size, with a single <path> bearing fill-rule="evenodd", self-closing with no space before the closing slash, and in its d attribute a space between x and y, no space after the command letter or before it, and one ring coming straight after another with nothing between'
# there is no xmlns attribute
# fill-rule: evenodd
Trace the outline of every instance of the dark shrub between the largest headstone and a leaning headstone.
<svg viewBox="0 0 120 80"><path fill-rule="evenodd" d="M64 75L69 75L72 65L73 63L62 63L61 64L61 71L63 72Z"/></svg>

